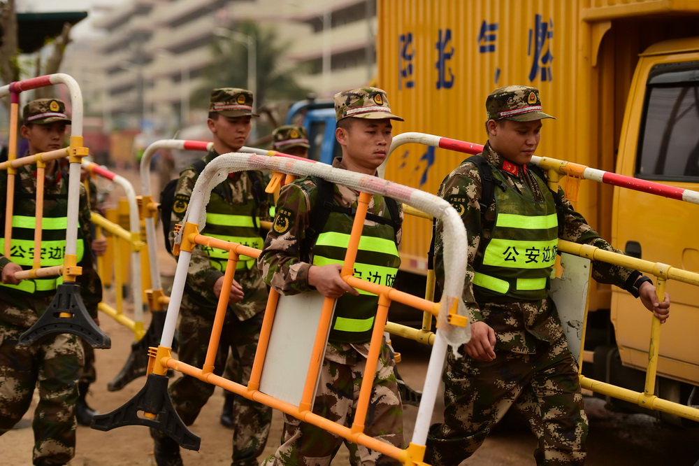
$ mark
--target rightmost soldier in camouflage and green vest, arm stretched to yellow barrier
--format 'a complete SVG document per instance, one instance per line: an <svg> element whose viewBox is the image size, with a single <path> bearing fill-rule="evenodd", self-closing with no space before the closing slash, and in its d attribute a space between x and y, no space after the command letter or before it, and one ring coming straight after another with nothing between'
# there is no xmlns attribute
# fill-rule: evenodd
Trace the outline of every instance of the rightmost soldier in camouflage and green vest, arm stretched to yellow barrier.
<svg viewBox="0 0 699 466"><path fill-rule="evenodd" d="M432 426L425 460L459 465L514 405L538 438L537 464L581 465L587 420L578 368L548 297L548 277L559 238L619 251L587 225L562 190L552 192L527 167L541 120L553 118L541 111L538 90L501 87L486 108L489 141L481 155L496 183L494 199L482 199L484 176L469 160L445 178L438 193L459 212L468 234L463 302L472 338L459 349L461 358L449 351L445 422ZM435 272L443 284L440 222L435 235ZM669 297L658 303L655 287L640 272L593 262L593 278L640 295L656 317L668 318Z"/></svg>

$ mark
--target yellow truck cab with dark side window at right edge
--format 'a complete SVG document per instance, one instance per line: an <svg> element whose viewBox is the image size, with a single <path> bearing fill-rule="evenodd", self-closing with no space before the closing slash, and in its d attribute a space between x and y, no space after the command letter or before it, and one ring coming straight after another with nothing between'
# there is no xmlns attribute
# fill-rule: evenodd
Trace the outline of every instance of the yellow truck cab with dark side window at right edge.
<svg viewBox="0 0 699 466"><path fill-rule="evenodd" d="M699 190L698 128L699 38L651 45L640 54L629 89L617 173ZM698 271L699 243L691 240L697 218L699 205L614 189L613 242L628 255ZM696 394L692 388L699 381L697 288L668 281L668 293L672 311L671 319L663 325L658 395L699 404L699 395L691 396ZM595 364L621 361L625 370L610 374L621 378L626 373L626 381L635 385L630 388L642 388L642 379L634 378L628 369L644 371L647 366L651 318L638 315L634 300L623 290L612 290L610 317L617 348L610 348L610 353L597 351Z"/></svg>

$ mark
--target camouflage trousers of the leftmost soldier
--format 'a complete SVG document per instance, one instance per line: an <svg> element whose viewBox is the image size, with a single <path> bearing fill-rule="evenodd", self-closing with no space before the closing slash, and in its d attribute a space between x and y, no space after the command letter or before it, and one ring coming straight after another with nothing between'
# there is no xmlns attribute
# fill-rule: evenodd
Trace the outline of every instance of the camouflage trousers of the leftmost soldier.
<svg viewBox="0 0 699 466"><path fill-rule="evenodd" d="M20 303L13 298L10 306L41 313L51 299L22 297ZM80 339L73 334L53 334L32 346L20 346L17 342L26 330L0 322L0 435L22 419L37 388L39 401L32 423L34 464L68 463L75 456L76 381L85 358Z"/></svg>

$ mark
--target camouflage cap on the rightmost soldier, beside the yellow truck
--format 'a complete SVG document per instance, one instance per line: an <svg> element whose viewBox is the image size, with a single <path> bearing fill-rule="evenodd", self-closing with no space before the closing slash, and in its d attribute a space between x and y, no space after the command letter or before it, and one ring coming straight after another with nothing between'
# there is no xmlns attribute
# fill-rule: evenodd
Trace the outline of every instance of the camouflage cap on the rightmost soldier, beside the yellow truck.
<svg viewBox="0 0 699 466"><path fill-rule="evenodd" d="M539 90L536 87L499 87L488 96L485 108L488 120L533 121L554 118L541 111Z"/></svg>

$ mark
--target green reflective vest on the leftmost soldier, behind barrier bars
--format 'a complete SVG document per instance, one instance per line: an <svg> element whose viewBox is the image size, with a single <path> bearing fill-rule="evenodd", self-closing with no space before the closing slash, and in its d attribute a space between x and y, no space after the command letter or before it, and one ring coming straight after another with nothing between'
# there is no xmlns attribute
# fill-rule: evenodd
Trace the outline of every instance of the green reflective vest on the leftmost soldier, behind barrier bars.
<svg viewBox="0 0 699 466"><path fill-rule="evenodd" d="M34 212L34 199L22 199L25 195L16 195L12 217L12 241L10 259L22 269L29 270L34 264L34 216L17 215L24 212ZM68 230L68 202L64 195L45 195L44 199L56 199L47 207L45 202L43 220L41 222L41 267L63 265L66 253L66 230ZM0 238L0 251L5 248L5 239ZM76 255L78 262L85 254L85 243L82 241L82 228L78 225L78 243ZM20 281L19 285L0 283L3 287L27 292L31 295L50 296L55 294L57 286L63 283L62 276L47 278L31 278Z"/></svg>

